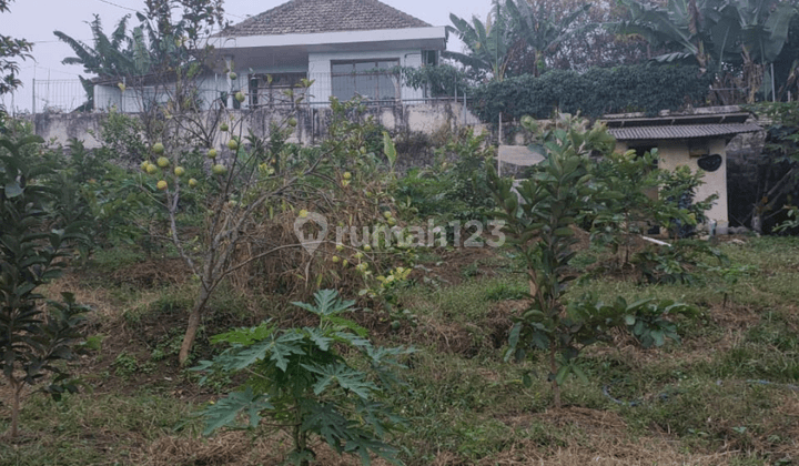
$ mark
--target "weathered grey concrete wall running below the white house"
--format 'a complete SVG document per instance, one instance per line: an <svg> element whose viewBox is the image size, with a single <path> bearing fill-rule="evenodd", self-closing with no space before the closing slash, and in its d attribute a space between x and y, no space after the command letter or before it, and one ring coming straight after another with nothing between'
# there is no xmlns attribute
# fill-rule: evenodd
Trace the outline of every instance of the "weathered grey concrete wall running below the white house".
<svg viewBox="0 0 799 466"><path fill-rule="evenodd" d="M231 111L231 116L244 125L243 133L253 130L257 135L266 135L271 122L280 122L289 115L290 109L259 109L253 112ZM133 113L135 114L135 113ZM407 138L419 133L431 135L442 126L451 129L481 126L479 120L462 102L432 100L417 104L395 104L367 107L362 118L372 116L392 135ZM45 140L65 144L69 139L84 141L89 149L99 148L100 128L105 113L39 113L34 116L37 134ZM297 110L297 128L292 142L317 144L327 134L332 110L324 107L303 107Z"/></svg>

